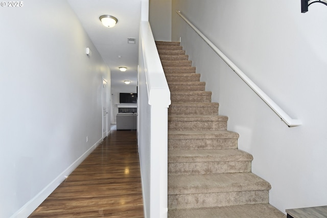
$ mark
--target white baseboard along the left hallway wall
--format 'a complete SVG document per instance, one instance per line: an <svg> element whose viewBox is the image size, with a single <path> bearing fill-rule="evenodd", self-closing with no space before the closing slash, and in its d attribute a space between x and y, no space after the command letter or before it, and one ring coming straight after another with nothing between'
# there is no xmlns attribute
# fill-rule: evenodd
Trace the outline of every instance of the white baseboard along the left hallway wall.
<svg viewBox="0 0 327 218"><path fill-rule="evenodd" d="M83 160L94 151L103 141L101 138L91 148L89 148L83 155L81 155L74 163L68 166L56 179L50 182L43 188L34 198L17 210L10 218L26 218L28 217L50 194L64 181L74 169L79 166Z"/></svg>

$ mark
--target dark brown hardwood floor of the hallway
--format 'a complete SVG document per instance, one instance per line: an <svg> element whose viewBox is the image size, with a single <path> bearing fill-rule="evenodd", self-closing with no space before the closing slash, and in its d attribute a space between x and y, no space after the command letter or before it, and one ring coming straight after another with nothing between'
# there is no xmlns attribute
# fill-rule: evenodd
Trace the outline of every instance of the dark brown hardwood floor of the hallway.
<svg viewBox="0 0 327 218"><path fill-rule="evenodd" d="M29 217L143 218L136 131L111 131Z"/></svg>

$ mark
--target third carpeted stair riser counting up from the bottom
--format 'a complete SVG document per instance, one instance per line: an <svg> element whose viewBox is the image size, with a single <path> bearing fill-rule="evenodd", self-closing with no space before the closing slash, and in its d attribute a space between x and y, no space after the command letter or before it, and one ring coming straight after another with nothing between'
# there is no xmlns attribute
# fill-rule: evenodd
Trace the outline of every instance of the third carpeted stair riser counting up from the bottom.
<svg viewBox="0 0 327 218"><path fill-rule="evenodd" d="M207 139L170 139L169 150L196 150L196 149L237 149L236 138L207 138Z"/></svg>

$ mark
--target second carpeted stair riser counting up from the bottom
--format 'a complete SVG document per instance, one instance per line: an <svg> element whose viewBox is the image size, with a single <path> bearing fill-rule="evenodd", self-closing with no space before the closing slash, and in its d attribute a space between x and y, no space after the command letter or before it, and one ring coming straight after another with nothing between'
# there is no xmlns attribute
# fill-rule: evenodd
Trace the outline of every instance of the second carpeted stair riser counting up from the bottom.
<svg viewBox="0 0 327 218"><path fill-rule="evenodd" d="M169 175L250 173L251 161L168 163Z"/></svg>

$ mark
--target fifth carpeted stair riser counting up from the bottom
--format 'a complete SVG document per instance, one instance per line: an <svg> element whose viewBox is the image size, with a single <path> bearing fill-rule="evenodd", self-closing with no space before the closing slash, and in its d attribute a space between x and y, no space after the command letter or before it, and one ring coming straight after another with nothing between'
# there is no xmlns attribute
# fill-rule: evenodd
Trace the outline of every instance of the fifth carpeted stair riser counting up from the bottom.
<svg viewBox="0 0 327 218"><path fill-rule="evenodd" d="M218 107L170 107L169 115L218 115Z"/></svg>

